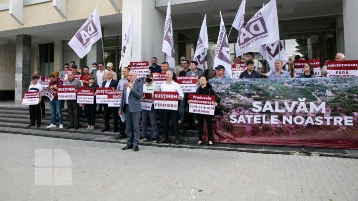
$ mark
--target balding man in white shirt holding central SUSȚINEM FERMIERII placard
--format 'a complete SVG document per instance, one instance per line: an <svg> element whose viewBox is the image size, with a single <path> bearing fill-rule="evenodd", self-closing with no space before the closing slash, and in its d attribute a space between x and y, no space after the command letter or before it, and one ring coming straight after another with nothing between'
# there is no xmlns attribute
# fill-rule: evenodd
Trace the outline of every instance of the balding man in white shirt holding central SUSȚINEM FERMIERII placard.
<svg viewBox="0 0 358 201"><path fill-rule="evenodd" d="M167 82L162 85L162 92L178 92L178 99L181 100L184 97L184 94L181 91L181 88L178 83L173 80L173 72L166 72ZM163 111L163 138L159 141L159 143L164 143L168 140L169 133L169 121L174 123L174 134L176 137L176 144L180 144L180 136L179 136L179 125L178 125L178 108L177 110L171 109L162 109Z"/></svg>

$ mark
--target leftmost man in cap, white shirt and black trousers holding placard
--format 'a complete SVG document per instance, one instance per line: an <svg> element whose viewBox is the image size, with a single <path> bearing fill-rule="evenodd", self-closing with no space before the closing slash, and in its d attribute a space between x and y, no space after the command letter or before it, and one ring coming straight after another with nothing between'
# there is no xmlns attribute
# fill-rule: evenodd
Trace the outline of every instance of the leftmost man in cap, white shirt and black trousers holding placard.
<svg viewBox="0 0 358 201"><path fill-rule="evenodd" d="M41 84L37 83L38 77L37 76L32 76L31 77L31 85L29 87L29 92L39 92L40 93L40 100L38 102L38 104L32 104L29 105L29 110L30 110L30 124L27 125L27 127L31 127L35 125L35 122L37 122L37 127L41 126L41 110L40 110L40 106L41 106L41 93L43 91L43 87Z"/></svg>

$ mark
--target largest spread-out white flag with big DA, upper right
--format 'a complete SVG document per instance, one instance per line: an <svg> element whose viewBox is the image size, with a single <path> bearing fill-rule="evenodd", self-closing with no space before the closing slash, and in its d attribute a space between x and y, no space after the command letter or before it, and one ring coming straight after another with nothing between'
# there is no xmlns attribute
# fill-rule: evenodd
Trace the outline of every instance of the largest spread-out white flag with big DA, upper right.
<svg viewBox="0 0 358 201"><path fill-rule="evenodd" d="M271 0L261 8L245 25L239 36L236 56L273 43L279 38L276 0Z"/></svg>

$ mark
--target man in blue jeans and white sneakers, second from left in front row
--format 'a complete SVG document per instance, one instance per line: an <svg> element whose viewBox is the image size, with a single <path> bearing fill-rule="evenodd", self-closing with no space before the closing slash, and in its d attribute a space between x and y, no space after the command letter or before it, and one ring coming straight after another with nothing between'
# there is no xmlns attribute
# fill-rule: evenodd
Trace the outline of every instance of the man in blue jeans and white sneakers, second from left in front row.
<svg viewBox="0 0 358 201"><path fill-rule="evenodd" d="M57 79L56 75L50 74L49 75L50 83L49 88L57 91L59 86L62 86L62 82L60 79ZM56 111L60 121L60 128L63 128L63 118L62 118L62 111L61 111L61 100L58 100L57 94L55 97L50 101L50 109L51 109L51 124L46 128L55 128L56 127Z"/></svg>

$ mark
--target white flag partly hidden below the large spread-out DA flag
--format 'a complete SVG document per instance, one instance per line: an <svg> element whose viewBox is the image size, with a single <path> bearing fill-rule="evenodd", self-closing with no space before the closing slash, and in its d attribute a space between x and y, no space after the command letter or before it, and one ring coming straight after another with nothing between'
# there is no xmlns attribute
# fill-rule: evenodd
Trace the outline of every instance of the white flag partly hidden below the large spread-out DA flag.
<svg viewBox="0 0 358 201"><path fill-rule="evenodd" d="M286 51L279 40L276 40L274 43L260 45L258 51L268 61L269 67L273 72L275 71L274 62L276 60L281 60L283 65L288 61Z"/></svg>

